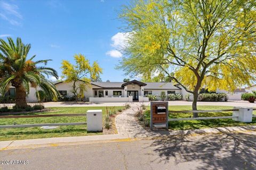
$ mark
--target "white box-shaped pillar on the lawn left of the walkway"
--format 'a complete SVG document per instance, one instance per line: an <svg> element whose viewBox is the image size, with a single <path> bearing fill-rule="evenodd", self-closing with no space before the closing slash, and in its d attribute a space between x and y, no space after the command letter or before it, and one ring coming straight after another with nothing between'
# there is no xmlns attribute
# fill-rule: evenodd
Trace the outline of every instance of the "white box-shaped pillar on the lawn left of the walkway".
<svg viewBox="0 0 256 170"><path fill-rule="evenodd" d="M87 131L102 132L102 110L89 110L86 112Z"/></svg>

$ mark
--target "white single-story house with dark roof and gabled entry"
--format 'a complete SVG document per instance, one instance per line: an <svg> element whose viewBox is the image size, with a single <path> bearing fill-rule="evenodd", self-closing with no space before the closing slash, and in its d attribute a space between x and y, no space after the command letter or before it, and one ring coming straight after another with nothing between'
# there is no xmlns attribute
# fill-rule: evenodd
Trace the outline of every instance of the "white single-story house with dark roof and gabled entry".
<svg viewBox="0 0 256 170"><path fill-rule="evenodd" d="M85 83L79 80L76 85ZM60 81L54 83L62 96L73 96L71 90L73 82ZM132 80L129 82L91 82L84 93L86 100L91 102L132 102L148 101L147 94L161 95L182 94L185 99L186 90L171 82L140 82ZM35 89L30 89L28 101L36 101Z"/></svg>

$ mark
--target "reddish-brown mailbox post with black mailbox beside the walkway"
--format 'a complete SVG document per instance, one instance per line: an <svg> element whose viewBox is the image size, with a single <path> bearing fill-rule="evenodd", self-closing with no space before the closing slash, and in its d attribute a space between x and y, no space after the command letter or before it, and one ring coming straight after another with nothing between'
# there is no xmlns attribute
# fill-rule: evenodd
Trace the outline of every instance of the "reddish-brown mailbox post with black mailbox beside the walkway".
<svg viewBox="0 0 256 170"><path fill-rule="evenodd" d="M150 129L166 128L168 129L168 101L150 102Z"/></svg>

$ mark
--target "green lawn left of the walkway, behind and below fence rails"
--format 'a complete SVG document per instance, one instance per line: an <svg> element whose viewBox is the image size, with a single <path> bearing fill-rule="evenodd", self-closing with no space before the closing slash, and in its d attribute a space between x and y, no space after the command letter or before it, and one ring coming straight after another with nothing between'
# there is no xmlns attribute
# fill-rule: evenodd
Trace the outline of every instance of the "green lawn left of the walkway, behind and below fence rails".
<svg viewBox="0 0 256 170"><path fill-rule="evenodd" d="M108 107L109 110L122 109L124 107ZM29 113L27 115L39 114L75 114L86 113L88 110L102 109L102 114L105 115L106 107L51 107L51 111L40 113ZM24 114L20 114L24 115ZM0 125L11 124L37 124L37 123L68 123L68 122L86 122L86 116L74 117L36 117L36 118L2 118ZM82 135L95 135L98 133L87 133L86 125L74 126L59 126L57 129L41 129L34 128L7 128L0 129L0 141L4 140L22 140L22 139L37 139L37 138L53 138L53 137L70 137Z"/></svg>

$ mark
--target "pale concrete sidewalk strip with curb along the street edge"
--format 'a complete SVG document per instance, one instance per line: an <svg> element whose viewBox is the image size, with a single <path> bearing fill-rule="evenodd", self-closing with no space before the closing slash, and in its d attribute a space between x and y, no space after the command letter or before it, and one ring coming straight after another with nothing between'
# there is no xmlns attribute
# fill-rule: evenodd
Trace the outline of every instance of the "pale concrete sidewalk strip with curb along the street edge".
<svg viewBox="0 0 256 170"><path fill-rule="evenodd" d="M211 128L198 130L179 130L179 131L159 131L132 134L108 134L108 135L91 135L83 137L63 137L63 138L44 138L44 139L28 139L14 141L0 141L0 150L24 149L38 147L54 147L65 145L79 145L86 143L103 143L116 141L131 141L143 138L167 137L170 135L195 135L206 133L225 133L225 132L250 132L256 131L256 126L236 126L227 128Z"/></svg>

